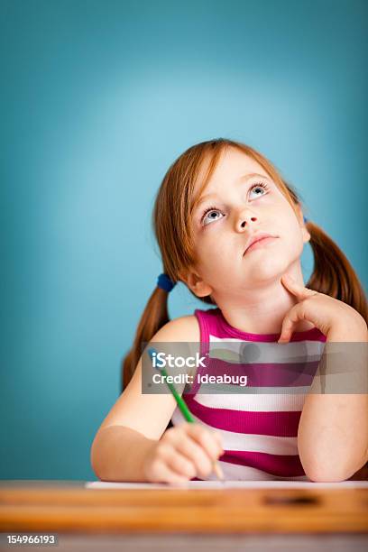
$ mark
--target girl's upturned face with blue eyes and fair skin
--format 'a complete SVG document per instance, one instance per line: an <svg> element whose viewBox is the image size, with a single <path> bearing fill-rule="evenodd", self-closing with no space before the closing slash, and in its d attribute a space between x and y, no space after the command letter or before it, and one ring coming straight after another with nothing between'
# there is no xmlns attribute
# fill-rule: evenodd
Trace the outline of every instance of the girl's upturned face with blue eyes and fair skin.
<svg viewBox="0 0 368 552"><path fill-rule="evenodd" d="M300 270L310 238L301 209L298 219L271 177L244 152L223 152L199 201L193 215L198 264L188 279L198 297L242 294L280 279L288 269ZM244 253L258 233L274 237Z"/></svg>

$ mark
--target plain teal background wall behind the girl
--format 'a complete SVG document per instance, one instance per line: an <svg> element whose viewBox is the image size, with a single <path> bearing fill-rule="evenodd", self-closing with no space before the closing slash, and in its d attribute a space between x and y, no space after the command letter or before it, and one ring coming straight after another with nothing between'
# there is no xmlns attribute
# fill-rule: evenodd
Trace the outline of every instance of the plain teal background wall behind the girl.
<svg viewBox="0 0 368 552"><path fill-rule="evenodd" d="M1 2L0 478L96 479L89 448L161 272L153 200L189 145L263 152L366 288L367 12ZM170 317L203 305L179 284Z"/></svg>

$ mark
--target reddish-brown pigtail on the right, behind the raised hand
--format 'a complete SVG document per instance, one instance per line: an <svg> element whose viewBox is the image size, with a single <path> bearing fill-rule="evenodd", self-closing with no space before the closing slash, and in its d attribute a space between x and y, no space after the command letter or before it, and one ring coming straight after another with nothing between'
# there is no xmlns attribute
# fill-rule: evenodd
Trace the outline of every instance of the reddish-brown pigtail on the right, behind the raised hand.
<svg viewBox="0 0 368 552"><path fill-rule="evenodd" d="M368 306L358 277L337 244L310 220L306 224L314 256L314 271L306 284L353 307L368 323Z"/></svg>

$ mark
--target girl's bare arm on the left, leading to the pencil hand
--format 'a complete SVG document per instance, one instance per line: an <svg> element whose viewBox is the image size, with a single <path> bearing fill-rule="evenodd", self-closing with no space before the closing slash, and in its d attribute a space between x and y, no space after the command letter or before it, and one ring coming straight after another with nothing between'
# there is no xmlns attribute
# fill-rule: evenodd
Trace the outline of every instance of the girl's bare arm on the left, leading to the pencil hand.
<svg viewBox="0 0 368 552"><path fill-rule="evenodd" d="M197 320L171 320L150 343L160 341L198 342ZM104 481L146 481L143 462L161 439L175 408L169 392L142 392L141 357L131 382L104 419L91 446L91 465L97 477Z"/></svg>

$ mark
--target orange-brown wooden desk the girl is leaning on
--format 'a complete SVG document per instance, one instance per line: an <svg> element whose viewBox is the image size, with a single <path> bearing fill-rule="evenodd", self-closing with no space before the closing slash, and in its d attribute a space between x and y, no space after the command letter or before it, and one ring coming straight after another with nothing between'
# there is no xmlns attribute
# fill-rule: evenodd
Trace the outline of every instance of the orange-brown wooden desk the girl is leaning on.
<svg viewBox="0 0 368 552"><path fill-rule="evenodd" d="M350 547L345 549L349 550L354 549L354 539L360 545L368 543L368 489L94 490L85 489L84 484L0 482L0 530L55 532L60 539L62 535L89 535L90 543L95 544L97 534L120 534L135 543L134 535L144 540L144 535L154 534L161 535L160 543L157 540L160 550L166 549L162 547L163 533L166 537L212 535L217 544L222 537L224 547L232 546L230 540L235 534L248 536L248 540L254 534L258 539L262 535L279 535L283 539L294 535L293 547L299 546L295 535L300 538L303 534L305 543L308 535L315 534L315 551L316 534L324 534L324 549L328 535L337 543L347 538ZM184 542L182 537L180 542ZM189 545L188 539L185 542L192 552L195 547ZM150 543L152 550L152 538ZM174 545L171 539L170 549L178 549ZM214 545L209 549L214 550ZM282 549L288 549L285 542Z"/></svg>

